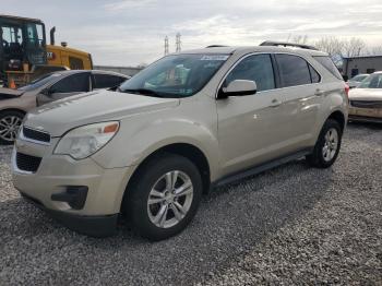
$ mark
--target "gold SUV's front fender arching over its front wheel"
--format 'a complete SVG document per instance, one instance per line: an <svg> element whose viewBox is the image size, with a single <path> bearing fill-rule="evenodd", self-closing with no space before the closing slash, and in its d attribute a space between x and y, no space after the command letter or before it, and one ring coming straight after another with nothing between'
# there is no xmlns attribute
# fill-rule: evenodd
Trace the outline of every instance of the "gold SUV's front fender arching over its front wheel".
<svg viewBox="0 0 382 286"><path fill-rule="evenodd" d="M142 117L136 120L132 118L136 122L123 120L121 124L129 124L131 129L120 129L116 138L104 147L105 152L96 153L93 159L104 168L139 166L157 150L171 144L186 143L199 148L205 155L210 164L211 179L214 179L217 176L219 156L216 133L213 134L200 121L179 117L158 118L160 117L156 114L155 117L146 115L143 122ZM109 156L112 150L123 152Z"/></svg>

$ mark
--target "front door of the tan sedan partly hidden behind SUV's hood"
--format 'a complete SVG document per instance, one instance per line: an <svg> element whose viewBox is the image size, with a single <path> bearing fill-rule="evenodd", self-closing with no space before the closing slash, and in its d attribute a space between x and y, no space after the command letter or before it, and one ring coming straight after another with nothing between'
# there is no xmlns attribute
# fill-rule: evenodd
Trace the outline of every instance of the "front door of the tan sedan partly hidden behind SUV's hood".
<svg viewBox="0 0 382 286"><path fill-rule="evenodd" d="M68 75L37 95L37 105L62 99L91 91L91 73L81 72Z"/></svg>

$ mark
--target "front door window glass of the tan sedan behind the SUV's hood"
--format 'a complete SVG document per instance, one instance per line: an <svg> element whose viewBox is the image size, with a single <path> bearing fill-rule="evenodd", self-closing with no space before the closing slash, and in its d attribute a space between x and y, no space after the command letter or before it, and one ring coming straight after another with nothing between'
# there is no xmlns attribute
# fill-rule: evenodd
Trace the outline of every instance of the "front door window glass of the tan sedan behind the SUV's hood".
<svg viewBox="0 0 382 286"><path fill-rule="evenodd" d="M82 72L69 75L56 83L50 91L52 93L84 93L88 92L88 73Z"/></svg>

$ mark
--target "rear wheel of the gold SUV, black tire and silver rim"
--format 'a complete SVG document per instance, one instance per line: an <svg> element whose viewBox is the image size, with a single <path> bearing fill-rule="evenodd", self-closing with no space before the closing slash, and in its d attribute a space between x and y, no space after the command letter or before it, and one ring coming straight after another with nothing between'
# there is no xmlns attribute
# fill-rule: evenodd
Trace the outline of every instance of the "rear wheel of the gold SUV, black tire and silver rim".
<svg viewBox="0 0 382 286"><path fill-rule="evenodd" d="M331 167L338 156L342 135L343 130L339 123L336 120L327 119L322 127L313 153L307 156L308 163L317 168Z"/></svg>

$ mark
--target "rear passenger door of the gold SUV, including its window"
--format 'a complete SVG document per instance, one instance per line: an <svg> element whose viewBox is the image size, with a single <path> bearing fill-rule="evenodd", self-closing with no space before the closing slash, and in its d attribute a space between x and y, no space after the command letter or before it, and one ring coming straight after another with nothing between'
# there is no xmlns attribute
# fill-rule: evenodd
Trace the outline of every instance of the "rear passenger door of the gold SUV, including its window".
<svg viewBox="0 0 382 286"><path fill-rule="evenodd" d="M286 116L283 129L289 134L285 148L293 152L310 144L325 91L320 74L302 57L277 53L275 58Z"/></svg>

